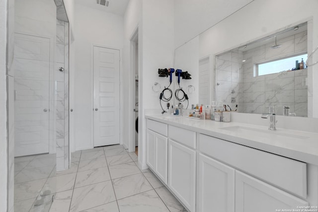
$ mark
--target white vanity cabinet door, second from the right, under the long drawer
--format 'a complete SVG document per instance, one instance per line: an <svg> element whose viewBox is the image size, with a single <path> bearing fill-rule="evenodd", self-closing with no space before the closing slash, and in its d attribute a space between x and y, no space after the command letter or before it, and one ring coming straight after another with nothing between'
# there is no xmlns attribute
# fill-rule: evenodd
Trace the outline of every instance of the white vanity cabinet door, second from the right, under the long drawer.
<svg viewBox="0 0 318 212"><path fill-rule="evenodd" d="M199 153L198 212L234 212L235 169Z"/></svg>

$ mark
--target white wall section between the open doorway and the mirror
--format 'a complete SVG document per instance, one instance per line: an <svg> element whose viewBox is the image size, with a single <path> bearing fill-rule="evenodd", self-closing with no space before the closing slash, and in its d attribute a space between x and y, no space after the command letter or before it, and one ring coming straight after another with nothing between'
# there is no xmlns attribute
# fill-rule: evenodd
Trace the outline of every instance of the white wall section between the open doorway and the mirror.
<svg viewBox="0 0 318 212"><path fill-rule="evenodd" d="M161 15L162 14L162 15ZM159 68L173 67L174 2L143 0L140 50L139 89L139 163L146 167L145 109L160 109L159 93L152 89L154 82L168 85L168 78L158 76Z"/></svg>

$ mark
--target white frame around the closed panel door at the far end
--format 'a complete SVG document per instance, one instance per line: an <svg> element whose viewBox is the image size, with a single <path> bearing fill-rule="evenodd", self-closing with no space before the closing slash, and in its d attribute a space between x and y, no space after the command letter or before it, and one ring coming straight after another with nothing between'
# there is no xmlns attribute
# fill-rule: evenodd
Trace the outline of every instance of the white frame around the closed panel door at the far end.
<svg viewBox="0 0 318 212"><path fill-rule="evenodd" d="M90 148L94 148L94 47L119 51L119 143L123 144L123 63L121 48L91 44L90 48Z"/></svg>

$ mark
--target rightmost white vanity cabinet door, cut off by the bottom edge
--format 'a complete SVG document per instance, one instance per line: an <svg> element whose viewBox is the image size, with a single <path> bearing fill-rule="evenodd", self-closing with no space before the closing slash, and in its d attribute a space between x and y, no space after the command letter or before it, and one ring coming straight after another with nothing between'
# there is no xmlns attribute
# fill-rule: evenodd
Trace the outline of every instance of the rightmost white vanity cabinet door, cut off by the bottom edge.
<svg viewBox="0 0 318 212"><path fill-rule="evenodd" d="M278 173L283 174L283 173ZM288 176L286 176L288 177ZM276 187L236 171L236 212L275 212L309 204Z"/></svg>

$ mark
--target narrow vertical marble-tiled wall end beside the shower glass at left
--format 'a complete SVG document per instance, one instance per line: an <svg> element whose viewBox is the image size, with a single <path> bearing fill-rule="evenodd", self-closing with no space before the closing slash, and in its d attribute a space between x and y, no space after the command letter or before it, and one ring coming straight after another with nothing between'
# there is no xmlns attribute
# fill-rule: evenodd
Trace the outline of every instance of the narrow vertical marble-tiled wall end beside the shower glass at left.
<svg viewBox="0 0 318 212"><path fill-rule="evenodd" d="M69 168L69 23L57 20L56 24L56 168ZM63 67L64 71L59 68Z"/></svg>

